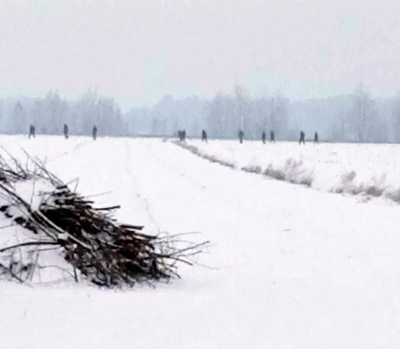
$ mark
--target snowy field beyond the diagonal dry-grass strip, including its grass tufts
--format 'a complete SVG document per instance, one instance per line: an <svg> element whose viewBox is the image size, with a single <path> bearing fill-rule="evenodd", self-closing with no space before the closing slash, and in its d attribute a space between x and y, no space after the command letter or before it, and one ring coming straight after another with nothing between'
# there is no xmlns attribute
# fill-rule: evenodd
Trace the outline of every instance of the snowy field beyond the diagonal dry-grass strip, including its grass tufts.
<svg viewBox="0 0 400 349"><path fill-rule="evenodd" d="M400 145L189 140L199 155L314 189L400 202ZM195 148L193 148L195 147Z"/></svg>

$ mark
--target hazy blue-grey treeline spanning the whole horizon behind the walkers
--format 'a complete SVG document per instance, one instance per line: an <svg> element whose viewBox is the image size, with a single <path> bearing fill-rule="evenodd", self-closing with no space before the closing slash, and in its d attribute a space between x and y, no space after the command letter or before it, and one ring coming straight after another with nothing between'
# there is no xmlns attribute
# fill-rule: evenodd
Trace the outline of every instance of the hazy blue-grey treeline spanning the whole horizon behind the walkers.
<svg viewBox="0 0 400 349"><path fill-rule="evenodd" d="M279 140L306 139L314 132L320 140L338 142L400 143L400 94L373 98L361 85L351 95L324 99L289 100L282 95L251 98L243 88L232 95L218 93L211 100L164 96L152 107L122 112L109 97L88 90L77 100L66 100L55 91L44 98L0 99L0 132L27 134L29 125L37 134L61 134L63 125L71 135L90 135L94 125L100 136L176 136L185 129L188 137L260 139L264 130Z"/></svg>

